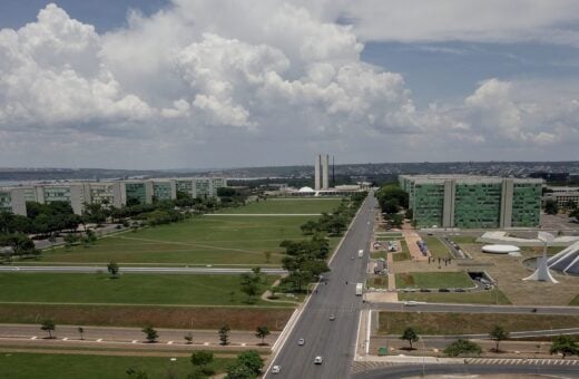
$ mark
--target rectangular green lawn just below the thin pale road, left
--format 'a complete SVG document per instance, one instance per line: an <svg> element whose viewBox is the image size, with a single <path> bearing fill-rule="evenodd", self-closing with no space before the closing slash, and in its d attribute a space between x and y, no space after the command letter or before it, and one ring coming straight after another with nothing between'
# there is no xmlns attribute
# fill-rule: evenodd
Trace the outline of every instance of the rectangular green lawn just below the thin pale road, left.
<svg viewBox="0 0 579 379"><path fill-rule="evenodd" d="M276 279L264 278L262 292ZM239 275L125 274L110 279L108 274L0 273L0 288L1 302L244 305L247 299L239 290ZM258 300L256 304L275 303Z"/></svg>

